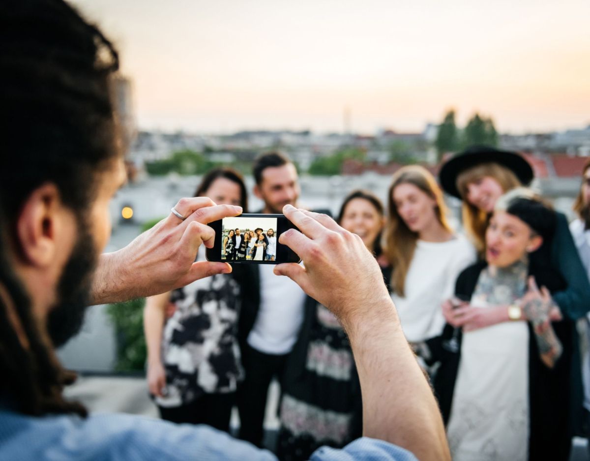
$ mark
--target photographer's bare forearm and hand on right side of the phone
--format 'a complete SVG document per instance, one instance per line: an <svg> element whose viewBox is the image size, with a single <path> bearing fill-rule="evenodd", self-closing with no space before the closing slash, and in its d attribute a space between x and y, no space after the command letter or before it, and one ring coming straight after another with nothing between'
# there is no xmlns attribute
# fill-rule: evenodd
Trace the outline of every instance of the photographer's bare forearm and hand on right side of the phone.
<svg viewBox="0 0 590 461"><path fill-rule="evenodd" d="M279 241L303 259L280 264L285 275L340 319L349 335L363 401L363 435L409 450L421 461L450 460L440 411L409 348L394 303L360 237L332 218L287 205L301 230Z"/></svg>

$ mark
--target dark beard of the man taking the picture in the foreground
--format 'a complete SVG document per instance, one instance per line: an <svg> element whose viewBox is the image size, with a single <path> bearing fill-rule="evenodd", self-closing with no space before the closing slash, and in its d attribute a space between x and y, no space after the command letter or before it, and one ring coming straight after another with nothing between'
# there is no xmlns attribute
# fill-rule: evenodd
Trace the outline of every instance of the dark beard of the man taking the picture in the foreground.
<svg viewBox="0 0 590 461"><path fill-rule="evenodd" d="M58 282L57 303L47 318L47 331L55 347L64 345L82 328L97 260L94 240L82 220L78 222L76 245Z"/></svg>

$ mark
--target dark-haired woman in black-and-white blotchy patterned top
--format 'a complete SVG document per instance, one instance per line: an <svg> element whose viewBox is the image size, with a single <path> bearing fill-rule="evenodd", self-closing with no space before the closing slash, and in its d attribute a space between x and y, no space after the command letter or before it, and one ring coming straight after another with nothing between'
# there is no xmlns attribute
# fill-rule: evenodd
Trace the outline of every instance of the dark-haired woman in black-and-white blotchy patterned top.
<svg viewBox="0 0 590 461"><path fill-rule="evenodd" d="M196 194L247 210L244 181L228 168L205 175ZM225 237L226 254L235 254L233 233ZM196 259L204 259L204 247ZM166 318L170 303L175 309ZM239 307L240 289L225 274L148 298L148 385L163 419L229 431L235 391L242 380L236 338Z"/></svg>

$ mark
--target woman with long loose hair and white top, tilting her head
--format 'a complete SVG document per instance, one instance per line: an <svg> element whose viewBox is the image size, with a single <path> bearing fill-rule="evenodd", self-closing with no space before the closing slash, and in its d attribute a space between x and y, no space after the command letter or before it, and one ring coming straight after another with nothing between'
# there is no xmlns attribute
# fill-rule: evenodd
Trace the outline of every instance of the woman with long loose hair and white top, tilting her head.
<svg viewBox="0 0 590 461"><path fill-rule="evenodd" d="M448 224L441 189L427 169L399 169L388 201L385 254L392 266L392 297L408 341L420 343L441 333L442 302L476 254Z"/></svg>

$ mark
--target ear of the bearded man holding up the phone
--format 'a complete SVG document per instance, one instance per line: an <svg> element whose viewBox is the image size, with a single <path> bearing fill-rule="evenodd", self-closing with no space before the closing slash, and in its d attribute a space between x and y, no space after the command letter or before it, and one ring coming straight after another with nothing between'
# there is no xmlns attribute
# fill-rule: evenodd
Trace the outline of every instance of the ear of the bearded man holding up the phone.
<svg viewBox="0 0 590 461"><path fill-rule="evenodd" d="M61 228L63 205L54 184L35 189L17 220L17 239L26 264L44 267L55 258L56 231Z"/></svg>

